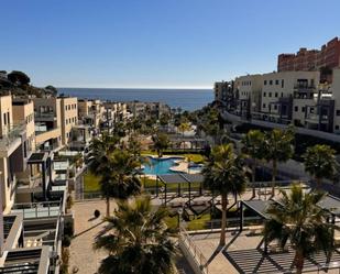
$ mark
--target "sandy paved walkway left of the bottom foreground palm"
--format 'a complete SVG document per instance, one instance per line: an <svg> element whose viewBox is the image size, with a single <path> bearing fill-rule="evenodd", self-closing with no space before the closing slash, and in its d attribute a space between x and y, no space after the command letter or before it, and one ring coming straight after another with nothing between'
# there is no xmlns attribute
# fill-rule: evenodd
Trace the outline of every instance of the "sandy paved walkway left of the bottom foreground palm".
<svg viewBox="0 0 340 274"><path fill-rule="evenodd" d="M111 211L114 202L111 201ZM100 261L106 256L102 251L94 251L92 244L95 235L103 228L102 217L94 218L95 209L106 213L105 200L91 200L75 202L73 210L75 213L75 239L70 244L69 273L73 267L78 267L78 274L94 274L100 265Z"/></svg>

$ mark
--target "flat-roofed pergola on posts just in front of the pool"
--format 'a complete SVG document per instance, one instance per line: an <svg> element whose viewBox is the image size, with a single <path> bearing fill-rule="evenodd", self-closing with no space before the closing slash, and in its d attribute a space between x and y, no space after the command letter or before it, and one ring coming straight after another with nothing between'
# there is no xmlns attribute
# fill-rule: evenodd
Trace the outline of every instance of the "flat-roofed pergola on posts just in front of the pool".
<svg viewBox="0 0 340 274"><path fill-rule="evenodd" d="M161 187L164 187L164 204L166 205L167 201L167 186L176 184L177 185L177 197L180 197L182 194L182 185L188 185L188 195L189 200L188 204L190 205L191 200L191 184L198 183L199 184L199 195L201 195L201 184L204 180L204 176L201 174L165 174L165 175L157 175L156 177L156 195L158 196L160 193L160 184ZM163 193L163 191L162 191Z"/></svg>

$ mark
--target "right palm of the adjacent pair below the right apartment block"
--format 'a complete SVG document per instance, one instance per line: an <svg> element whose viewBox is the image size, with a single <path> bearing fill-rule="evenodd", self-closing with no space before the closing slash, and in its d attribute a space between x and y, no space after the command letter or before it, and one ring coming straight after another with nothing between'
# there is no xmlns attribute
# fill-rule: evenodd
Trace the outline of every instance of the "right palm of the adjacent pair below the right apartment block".
<svg viewBox="0 0 340 274"><path fill-rule="evenodd" d="M277 163L287 162L293 156L294 132L292 128L283 131L274 129L264 134L263 153L267 162L272 162L272 195L275 195Z"/></svg>

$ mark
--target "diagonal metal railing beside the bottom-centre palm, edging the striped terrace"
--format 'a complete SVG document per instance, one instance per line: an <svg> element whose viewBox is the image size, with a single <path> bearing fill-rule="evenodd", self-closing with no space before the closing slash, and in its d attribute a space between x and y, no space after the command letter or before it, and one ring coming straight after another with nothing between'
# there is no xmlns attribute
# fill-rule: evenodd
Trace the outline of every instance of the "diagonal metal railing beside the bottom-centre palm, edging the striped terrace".
<svg viewBox="0 0 340 274"><path fill-rule="evenodd" d="M179 231L179 241L185 246L187 252L193 256L194 262L197 264L198 268L201 271L202 274L208 274L208 260L205 257L204 253L191 240L190 235L184 228L180 228Z"/></svg>

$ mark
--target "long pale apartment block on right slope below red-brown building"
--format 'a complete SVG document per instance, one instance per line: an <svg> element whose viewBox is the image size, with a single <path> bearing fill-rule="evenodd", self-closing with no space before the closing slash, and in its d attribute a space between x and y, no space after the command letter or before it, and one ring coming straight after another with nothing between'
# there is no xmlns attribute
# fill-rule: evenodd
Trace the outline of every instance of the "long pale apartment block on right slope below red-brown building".
<svg viewBox="0 0 340 274"><path fill-rule="evenodd" d="M323 81L317 70L238 77L233 90L238 107L226 107L224 111L239 117L239 121L245 119L263 127L294 124L340 134L340 68L332 69L331 75L330 83Z"/></svg>

